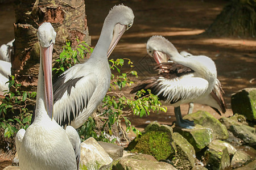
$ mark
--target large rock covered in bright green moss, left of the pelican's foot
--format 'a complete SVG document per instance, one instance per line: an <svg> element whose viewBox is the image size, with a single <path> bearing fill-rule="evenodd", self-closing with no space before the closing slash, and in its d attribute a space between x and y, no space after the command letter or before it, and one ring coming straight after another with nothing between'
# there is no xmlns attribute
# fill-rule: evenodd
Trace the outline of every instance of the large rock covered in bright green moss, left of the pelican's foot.
<svg viewBox="0 0 256 170"><path fill-rule="evenodd" d="M126 150L152 155L156 160L168 159L175 153L172 135L170 126L152 123L145 128L142 135L129 143Z"/></svg>

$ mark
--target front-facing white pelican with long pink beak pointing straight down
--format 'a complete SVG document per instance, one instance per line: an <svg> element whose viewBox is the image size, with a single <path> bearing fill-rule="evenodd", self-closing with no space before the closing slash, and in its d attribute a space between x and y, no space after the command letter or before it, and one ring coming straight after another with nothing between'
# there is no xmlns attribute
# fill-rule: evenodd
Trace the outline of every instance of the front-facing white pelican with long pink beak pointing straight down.
<svg viewBox="0 0 256 170"><path fill-rule="evenodd" d="M50 23L38 29L40 66L35 120L16 134L20 169L79 169L80 138L72 126L64 130L53 116L52 50L56 32Z"/></svg>

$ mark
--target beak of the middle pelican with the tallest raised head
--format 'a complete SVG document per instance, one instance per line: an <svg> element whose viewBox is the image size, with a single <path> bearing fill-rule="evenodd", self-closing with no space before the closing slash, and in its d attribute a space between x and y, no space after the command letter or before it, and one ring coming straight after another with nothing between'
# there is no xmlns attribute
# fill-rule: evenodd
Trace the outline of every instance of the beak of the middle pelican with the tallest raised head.
<svg viewBox="0 0 256 170"><path fill-rule="evenodd" d="M113 38L109 46L109 50L107 56L109 58L110 54L113 52L115 46L117 45L118 41L121 39L123 33L126 31L126 25L116 24L113 31Z"/></svg>

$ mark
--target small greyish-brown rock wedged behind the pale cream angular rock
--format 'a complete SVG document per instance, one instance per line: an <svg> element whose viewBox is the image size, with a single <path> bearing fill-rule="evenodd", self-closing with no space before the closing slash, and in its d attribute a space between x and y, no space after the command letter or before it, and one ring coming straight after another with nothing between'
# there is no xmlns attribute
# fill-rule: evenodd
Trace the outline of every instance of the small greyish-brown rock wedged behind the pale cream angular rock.
<svg viewBox="0 0 256 170"><path fill-rule="evenodd" d="M123 156L123 147L114 145L113 143L106 143L99 141L101 147L109 154L109 156L115 160Z"/></svg>

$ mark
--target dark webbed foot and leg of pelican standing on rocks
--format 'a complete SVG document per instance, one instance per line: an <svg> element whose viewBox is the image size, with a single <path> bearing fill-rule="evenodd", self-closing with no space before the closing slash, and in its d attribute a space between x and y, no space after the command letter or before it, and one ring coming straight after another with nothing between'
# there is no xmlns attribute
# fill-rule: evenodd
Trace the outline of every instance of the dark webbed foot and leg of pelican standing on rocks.
<svg viewBox="0 0 256 170"><path fill-rule="evenodd" d="M193 129L195 124L193 121L189 120L184 120L181 116L181 111L180 107L175 107L174 108L174 113L176 117L176 124L177 126L180 126L181 128L186 128L186 129Z"/></svg>

